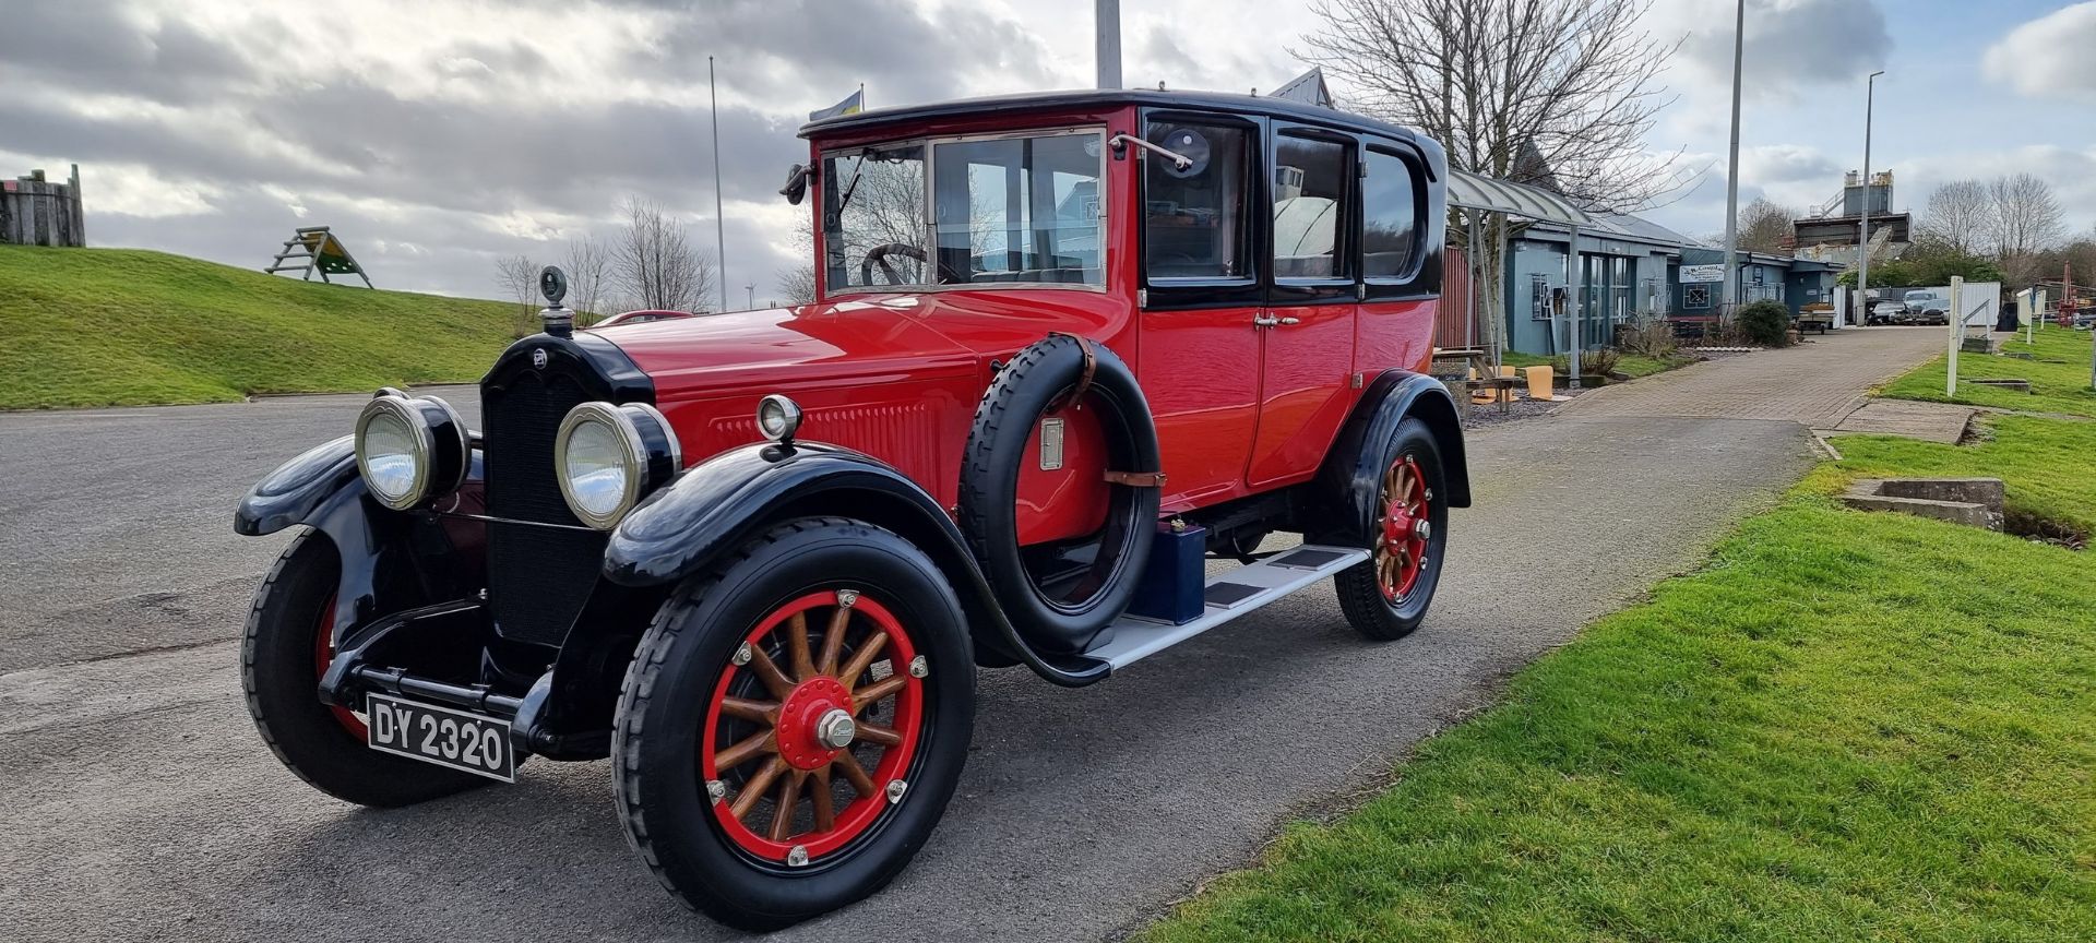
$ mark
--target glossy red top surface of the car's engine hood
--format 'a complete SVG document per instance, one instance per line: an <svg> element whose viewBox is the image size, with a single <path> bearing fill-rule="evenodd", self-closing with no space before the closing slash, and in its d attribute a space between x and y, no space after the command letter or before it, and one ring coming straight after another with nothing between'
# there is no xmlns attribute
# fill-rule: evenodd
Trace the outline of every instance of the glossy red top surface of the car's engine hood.
<svg viewBox="0 0 2096 943"><path fill-rule="evenodd" d="M977 354L926 327L908 300L700 314L595 331L656 383L656 400L748 392L767 383L905 379L966 373Z"/></svg>

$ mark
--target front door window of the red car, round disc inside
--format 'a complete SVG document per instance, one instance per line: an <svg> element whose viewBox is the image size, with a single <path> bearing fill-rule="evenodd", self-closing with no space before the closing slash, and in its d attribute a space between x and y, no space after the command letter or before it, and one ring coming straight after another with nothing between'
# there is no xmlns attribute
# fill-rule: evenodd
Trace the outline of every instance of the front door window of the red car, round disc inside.
<svg viewBox="0 0 2096 943"><path fill-rule="evenodd" d="M1142 270L1151 279L1245 279L1249 128L1151 122L1144 140L1193 159L1142 157Z"/></svg>

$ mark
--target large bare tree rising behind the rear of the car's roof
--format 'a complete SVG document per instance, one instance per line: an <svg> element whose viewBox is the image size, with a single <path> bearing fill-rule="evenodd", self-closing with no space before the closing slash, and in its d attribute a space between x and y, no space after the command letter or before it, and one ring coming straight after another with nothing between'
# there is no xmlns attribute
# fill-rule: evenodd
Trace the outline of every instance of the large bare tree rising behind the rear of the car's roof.
<svg viewBox="0 0 2096 943"><path fill-rule="evenodd" d="M1463 170L1635 212L1679 191L1645 132L1673 103L1658 73L1681 40L1639 23L1650 0L1316 0L1304 59L1419 128Z"/></svg>

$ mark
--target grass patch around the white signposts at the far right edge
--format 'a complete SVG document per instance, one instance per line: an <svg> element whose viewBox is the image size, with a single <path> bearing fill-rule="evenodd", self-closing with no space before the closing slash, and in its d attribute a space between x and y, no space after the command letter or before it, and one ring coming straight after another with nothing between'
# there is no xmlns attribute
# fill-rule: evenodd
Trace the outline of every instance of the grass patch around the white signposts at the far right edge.
<svg viewBox="0 0 2096 943"><path fill-rule="evenodd" d="M2090 390L2090 331L2039 327L2037 344L2025 344L2023 335L2016 335L2016 339L2002 344L2002 350L2033 354L2035 360L1958 354L1958 396L1943 396L1943 358L1937 356L1886 383L1878 396L2096 417L2096 392ZM2029 379L2031 392L1962 383L1972 377Z"/></svg>

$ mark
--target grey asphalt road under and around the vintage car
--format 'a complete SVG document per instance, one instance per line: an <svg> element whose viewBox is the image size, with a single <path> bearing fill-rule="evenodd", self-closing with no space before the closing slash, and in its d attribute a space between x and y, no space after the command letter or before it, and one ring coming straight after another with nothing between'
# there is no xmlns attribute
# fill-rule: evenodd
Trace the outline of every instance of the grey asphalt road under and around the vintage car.
<svg viewBox="0 0 2096 943"><path fill-rule="evenodd" d="M916 865L780 937L1138 926L1694 566L1811 463L1800 421L1937 339L1838 333L1478 430L1478 507L1453 518L1434 614L1400 643L1356 639L1314 587L1090 689L983 673L968 771ZM474 413L470 390L451 398ZM606 763L365 811L262 748L228 639L283 539L233 536L231 507L358 402L0 415L0 937L727 937L627 849Z"/></svg>

